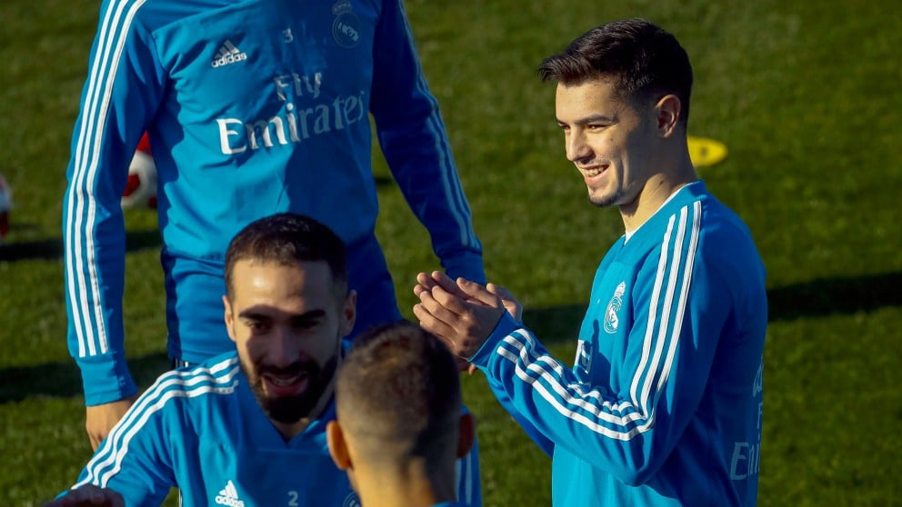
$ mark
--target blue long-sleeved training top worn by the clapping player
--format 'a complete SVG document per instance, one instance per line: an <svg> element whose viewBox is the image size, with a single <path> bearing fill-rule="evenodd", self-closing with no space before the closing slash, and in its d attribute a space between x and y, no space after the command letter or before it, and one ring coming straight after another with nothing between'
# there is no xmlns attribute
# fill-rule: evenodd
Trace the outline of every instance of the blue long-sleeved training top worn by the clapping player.
<svg viewBox="0 0 902 507"><path fill-rule="evenodd" d="M553 454L555 505L748 506L766 331L751 234L696 182L608 251L572 368L507 314L471 361Z"/></svg>

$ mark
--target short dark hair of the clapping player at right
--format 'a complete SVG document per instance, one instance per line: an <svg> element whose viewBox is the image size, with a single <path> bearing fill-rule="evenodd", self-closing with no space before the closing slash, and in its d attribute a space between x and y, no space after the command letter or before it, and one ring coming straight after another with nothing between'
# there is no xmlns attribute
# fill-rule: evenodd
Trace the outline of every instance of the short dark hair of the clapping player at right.
<svg viewBox="0 0 902 507"><path fill-rule="evenodd" d="M675 94L682 104L680 122L689 119L692 65L676 37L644 19L631 18L596 26L538 67L542 81L578 85L612 79L626 100L657 100Z"/></svg>

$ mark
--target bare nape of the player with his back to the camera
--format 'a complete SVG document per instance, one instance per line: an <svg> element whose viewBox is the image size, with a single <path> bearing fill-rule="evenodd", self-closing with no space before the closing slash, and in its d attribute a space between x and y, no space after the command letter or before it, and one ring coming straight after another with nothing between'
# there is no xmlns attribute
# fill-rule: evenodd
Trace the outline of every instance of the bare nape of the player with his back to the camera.
<svg viewBox="0 0 902 507"><path fill-rule="evenodd" d="M454 463L432 475L424 458L398 467L380 463L361 470L358 466L355 477L360 502L366 507L429 507L454 502L456 497Z"/></svg>

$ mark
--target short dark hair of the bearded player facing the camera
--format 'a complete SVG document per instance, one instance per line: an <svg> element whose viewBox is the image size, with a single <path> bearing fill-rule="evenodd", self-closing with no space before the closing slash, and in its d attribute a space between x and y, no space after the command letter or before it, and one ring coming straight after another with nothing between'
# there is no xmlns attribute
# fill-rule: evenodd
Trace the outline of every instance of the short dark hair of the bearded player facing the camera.
<svg viewBox="0 0 902 507"><path fill-rule="evenodd" d="M254 259L291 265L325 261L336 288L347 292L345 244L332 229L303 214L282 213L247 224L226 250L226 293L232 296L232 270L238 261Z"/></svg>

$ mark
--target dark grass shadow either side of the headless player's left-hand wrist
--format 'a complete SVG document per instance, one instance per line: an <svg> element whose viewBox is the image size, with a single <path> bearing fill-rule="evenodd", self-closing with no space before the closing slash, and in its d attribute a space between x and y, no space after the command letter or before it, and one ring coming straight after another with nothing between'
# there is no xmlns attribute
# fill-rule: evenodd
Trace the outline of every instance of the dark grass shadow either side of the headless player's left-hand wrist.
<svg viewBox="0 0 902 507"><path fill-rule="evenodd" d="M146 387L169 370L165 352L130 358L128 368L139 387ZM0 404L21 402L31 396L71 398L82 394L82 377L74 361L45 363L0 370Z"/></svg>

